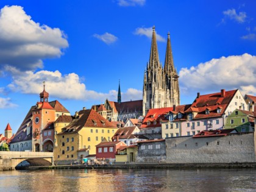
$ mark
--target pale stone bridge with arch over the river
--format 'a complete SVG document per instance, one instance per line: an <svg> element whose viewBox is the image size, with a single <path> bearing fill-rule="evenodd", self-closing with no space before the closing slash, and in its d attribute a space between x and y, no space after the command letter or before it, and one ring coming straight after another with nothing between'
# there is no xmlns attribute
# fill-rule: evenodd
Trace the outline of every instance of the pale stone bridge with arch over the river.
<svg viewBox="0 0 256 192"><path fill-rule="evenodd" d="M53 152L0 151L0 171L15 170L24 160L30 166L51 166Z"/></svg>

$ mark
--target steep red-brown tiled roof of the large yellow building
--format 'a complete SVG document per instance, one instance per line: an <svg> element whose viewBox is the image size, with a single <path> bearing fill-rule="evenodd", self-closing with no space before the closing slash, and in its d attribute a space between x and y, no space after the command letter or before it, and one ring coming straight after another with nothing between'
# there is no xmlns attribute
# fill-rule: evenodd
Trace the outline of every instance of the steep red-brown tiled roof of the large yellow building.
<svg viewBox="0 0 256 192"><path fill-rule="evenodd" d="M101 128L116 128L115 125L107 121L99 113L93 109L80 110L77 116L73 116L71 123L68 126L63 127L63 132L79 132L83 127L101 127Z"/></svg>

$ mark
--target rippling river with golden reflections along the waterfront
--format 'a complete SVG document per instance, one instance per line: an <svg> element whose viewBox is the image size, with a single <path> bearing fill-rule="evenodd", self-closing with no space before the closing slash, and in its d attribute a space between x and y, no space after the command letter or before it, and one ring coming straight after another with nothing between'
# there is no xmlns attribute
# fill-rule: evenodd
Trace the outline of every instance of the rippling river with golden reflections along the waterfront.
<svg viewBox="0 0 256 192"><path fill-rule="evenodd" d="M57 169L0 172L0 191L256 191L256 169Z"/></svg>

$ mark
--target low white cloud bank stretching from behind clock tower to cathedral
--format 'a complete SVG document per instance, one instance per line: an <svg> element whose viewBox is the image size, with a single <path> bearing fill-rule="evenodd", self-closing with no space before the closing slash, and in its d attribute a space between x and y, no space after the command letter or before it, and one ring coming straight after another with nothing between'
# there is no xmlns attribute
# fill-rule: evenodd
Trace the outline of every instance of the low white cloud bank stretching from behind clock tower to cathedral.
<svg viewBox="0 0 256 192"><path fill-rule="evenodd" d="M117 91L110 90L108 93L98 93L93 90L87 90L85 84L75 73L63 75L60 71L33 71L21 72L10 66L5 67L5 71L12 74L13 80L9 84L12 91L20 91L26 94L39 94L42 91L42 82L46 81L46 91L50 96L60 99L77 99L82 101L104 101L106 98L117 100ZM129 88L123 93L124 99L138 99L142 97L142 92Z"/></svg>

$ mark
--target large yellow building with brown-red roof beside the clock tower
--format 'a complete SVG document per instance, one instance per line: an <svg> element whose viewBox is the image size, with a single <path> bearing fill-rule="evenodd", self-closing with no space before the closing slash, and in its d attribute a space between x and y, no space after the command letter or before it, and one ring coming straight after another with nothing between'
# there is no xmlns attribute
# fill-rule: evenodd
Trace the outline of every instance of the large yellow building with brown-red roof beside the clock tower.
<svg viewBox="0 0 256 192"><path fill-rule="evenodd" d="M66 122L55 122L55 130L59 132L62 127L55 138L55 161L77 160L80 158L77 155L79 149L88 149L90 155L96 154L95 146L104 138L108 141L112 140L118 129L93 109L76 112L71 118L71 122L65 127L62 126L68 123L68 118L65 119Z"/></svg>

